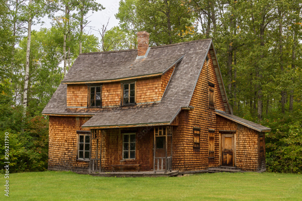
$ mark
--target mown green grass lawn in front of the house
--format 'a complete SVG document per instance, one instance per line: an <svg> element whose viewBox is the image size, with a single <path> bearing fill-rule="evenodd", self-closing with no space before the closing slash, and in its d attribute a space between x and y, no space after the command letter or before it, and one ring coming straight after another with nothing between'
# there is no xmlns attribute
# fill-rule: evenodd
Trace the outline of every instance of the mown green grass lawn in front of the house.
<svg viewBox="0 0 302 201"><path fill-rule="evenodd" d="M46 171L9 175L0 200L302 200L302 175L204 173L183 177L93 177Z"/></svg>

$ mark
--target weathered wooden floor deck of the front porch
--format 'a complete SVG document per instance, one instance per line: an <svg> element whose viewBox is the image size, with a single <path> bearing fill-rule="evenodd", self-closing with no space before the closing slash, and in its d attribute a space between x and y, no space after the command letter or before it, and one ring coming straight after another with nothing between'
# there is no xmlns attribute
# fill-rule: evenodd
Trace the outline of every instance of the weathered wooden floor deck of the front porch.
<svg viewBox="0 0 302 201"><path fill-rule="evenodd" d="M171 172L156 172L153 171L141 171L141 172L100 172L100 173L90 173L92 176L99 177L172 177L177 176L178 171L172 170Z"/></svg>

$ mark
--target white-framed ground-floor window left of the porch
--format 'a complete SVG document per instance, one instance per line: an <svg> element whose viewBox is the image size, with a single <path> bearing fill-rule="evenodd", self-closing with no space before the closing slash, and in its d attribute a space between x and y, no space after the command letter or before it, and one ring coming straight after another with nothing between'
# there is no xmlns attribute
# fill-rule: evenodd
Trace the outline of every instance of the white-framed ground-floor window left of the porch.
<svg viewBox="0 0 302 201"><path fill-rule="evenodd" d="M85 132L87 133L87 132ZM90 152L90 134L79 133L78 141L78 159L89 160Z"/></svg>

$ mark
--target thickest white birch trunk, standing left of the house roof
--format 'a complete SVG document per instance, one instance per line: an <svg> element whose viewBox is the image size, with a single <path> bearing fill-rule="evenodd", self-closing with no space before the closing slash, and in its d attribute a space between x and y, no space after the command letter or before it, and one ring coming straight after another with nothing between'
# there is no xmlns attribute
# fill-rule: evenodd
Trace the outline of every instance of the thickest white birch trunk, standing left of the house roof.
<svg viewBox="0 0 302 201"><path fill-rule="evenodd" d="M32 0L29 0L29 7L32 4ZM28 80L29 80L29 53L31 50L31 16L28 17L28 28L27 28L27 46L26 46L26 64L25 64L25 79L24 79L24 90L23 90L23 116L26 115L27 108L27 92L28 92Z"/></svg>

